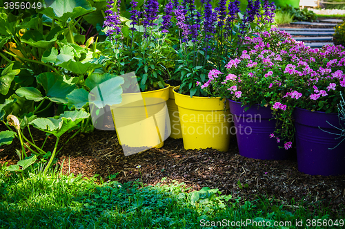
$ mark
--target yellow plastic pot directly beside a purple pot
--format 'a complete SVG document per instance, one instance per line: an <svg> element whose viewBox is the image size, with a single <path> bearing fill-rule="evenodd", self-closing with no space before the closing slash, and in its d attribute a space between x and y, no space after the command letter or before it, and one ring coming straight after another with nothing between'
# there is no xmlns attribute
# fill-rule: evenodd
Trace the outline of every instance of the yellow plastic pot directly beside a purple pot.
<svg viewBox="0 0 345 229"><path fill-rule="evenodd" d="M230 144L230 111L228 102L220 98L208 98L177 93L175 102L179 108L182 138L185 149L208 147L226 152Z"/></svg>

